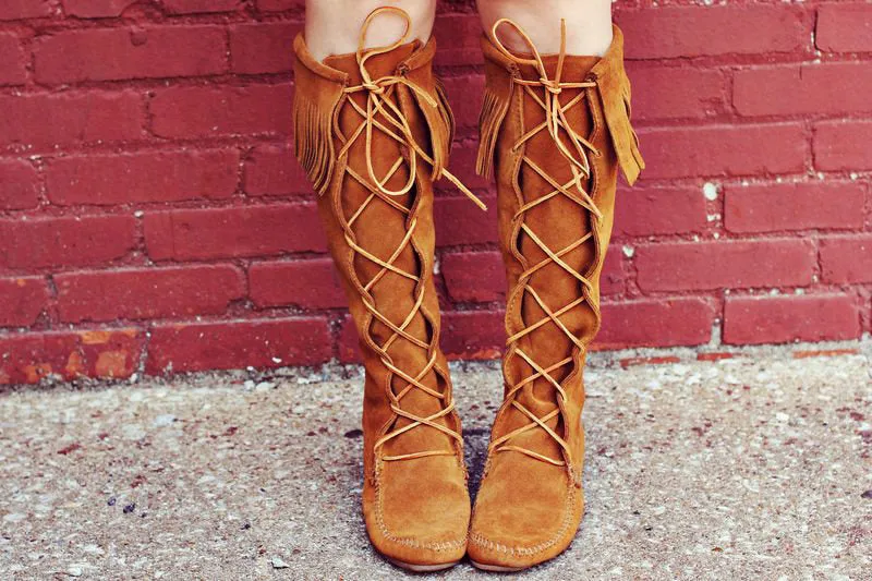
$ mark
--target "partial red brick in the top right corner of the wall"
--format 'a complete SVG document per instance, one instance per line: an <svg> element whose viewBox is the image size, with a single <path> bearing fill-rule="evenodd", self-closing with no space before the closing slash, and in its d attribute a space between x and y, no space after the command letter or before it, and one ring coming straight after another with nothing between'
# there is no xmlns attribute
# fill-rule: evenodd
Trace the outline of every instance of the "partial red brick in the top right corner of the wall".
<svg viewBox="0 0 872 581"><path fill-rule="evenodd" d="M826 52L872 52L872 4L821 4L814 39Z"/></svg>

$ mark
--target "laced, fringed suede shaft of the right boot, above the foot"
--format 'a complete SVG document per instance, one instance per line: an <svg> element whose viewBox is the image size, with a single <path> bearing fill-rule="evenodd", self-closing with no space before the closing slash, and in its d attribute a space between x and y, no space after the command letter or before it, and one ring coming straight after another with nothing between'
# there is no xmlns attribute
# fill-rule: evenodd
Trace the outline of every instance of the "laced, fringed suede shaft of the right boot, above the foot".
<svg viewBox="0 0 872 581"><path fill-rule="evenodd" d="M532 43L530 53L511 53L496 35L482 47L477 170L496 177L509 287L507 398L494 439L529 425L530 414L547 417L543 423L567 446L540 427L502 445L579 467L582 368L600 328L618 168L630 183L643 168L630 126L622 35L614 27L603 58L540 56Z"/></svg>

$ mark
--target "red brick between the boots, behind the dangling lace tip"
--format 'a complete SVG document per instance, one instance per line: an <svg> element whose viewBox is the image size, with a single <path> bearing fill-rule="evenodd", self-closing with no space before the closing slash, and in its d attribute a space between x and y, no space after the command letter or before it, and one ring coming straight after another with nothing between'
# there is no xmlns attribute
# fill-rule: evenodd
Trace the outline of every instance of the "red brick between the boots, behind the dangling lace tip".
<svg viewBox="0 0 872 581"><path fill-rule="evenodd" d="M491 208L482 211L467 196L437 197L433 206L436 245L482 244L497 241L496 198L483 196Z"/></svg>

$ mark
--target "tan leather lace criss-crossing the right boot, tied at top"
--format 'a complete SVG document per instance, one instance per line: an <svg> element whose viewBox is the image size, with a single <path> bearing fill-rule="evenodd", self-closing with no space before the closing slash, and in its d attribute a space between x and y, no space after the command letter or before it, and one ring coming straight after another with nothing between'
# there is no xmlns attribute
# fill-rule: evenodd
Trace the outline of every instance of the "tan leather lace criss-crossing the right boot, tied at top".
<svg viewBox="0 0 872 581"><path fill-rule="evenodd" d="M502 43L499 40L499 37L497 36L497 31L504 24L507 24L512 28L514 28L514 31L520 35L520 37L530 48L532 58L519 57L509 51L502 45ZM588 278L585 278L584 275L582 275L581 273L569 266L561 258L566 254L572 252L574 249L588 242L593 237L593 232L588 232L586 234L580 237L578 240L576 240L574 242L570 243L569 245L562 249L554 250L548 247L548 245L545 244L545 242L543 242L543 240L536 234L536 232L534 232L533 229L528 223L524 222L524 217L526 213L529 213L536 206L541 204L546 204L549 199L553 199L556 196L565 196L568 199L572 201L573 203L578 204L584 210L593 214L597 220L602 219L603 215L601 210L596 207L590 194L584 190L584 181L588 180L591 175L591 165L588 158L588 153L590 152L594 156L600 156L601 154L592 143L585 140L582 135L579 135L572 129L566 117L566 112L569 109L579 106L582 102L582 100L585 99L585 97L588 96L588 92L581 90L577 96L572 97L566 102L561 101L561 94L564 89L586 89L589 87L596 87L596 83L592 81L566 82L561 80L561 74L564 70L564 60L566 58L566 22L562 20L560 21L560 52L558 53L557 57L557 66L553 78L548 76L545 63L543 62L542 57L536 50L535 45L517 23L508 19L501 19L497 21L492 29L492 39L495 46L500 50L500 52L502 52L513 63L518 65L532 65L535 68L540 76L540 78L535 81L520 78L517 74L513 75L512 77L512 82L516 85L522 86L524 92L528 95L530 95L533 101L536 102L545 113L545 120L538 125L532 128L530 131L525 132L523 135L521 135L521 137L513 144L512 150L517 152L531 137L537 135L542 131L547 131L548 134L550 135L552 141L557 146L557 149L560 152L561 156L566 159L572 172L572 179L566 183L560 183L552 175L548 175L548 173L546 173L541 167L538 167L538 165L536 165L531 158L529 158L525 155L522 157L522 162L525 164L540 177L542 177L542 179L545 180L545 182L547 182L550 185L550 187L553 187L553 191L549 192L548 194L541 196L532 202L523 204L512 217L512 221L514 221L516 223L518 221L521 222L520 231L526 234L530 238L530 240L532 240L533 243L535 243L536 246L538 246L540 250L542 250L542 252L546 255L544 259L526 268L519 277L519 285L521 285L523 289L522 292L529 294L536 302L536 304L545 313L545 316L532 324L526 324L526 322L524 322L525 327L520 331L511 335L507 339L507 346L509 348L507 351L507 358L509 356L520 358L533 370L533 373L528 377L518 382L516 385L512 385L506 394L506 400L510 401L510 404L514 409L517 409L520 413L522 413L530 422L493 440L491 443L491 450L517 451L554 465L566 465L566 461L564 459L549 458L545 455L538 453L529 448L514 445L511 441L516 436L519 436L521 434L524 434L531 429L535 429L538 427L544 432L546 432L552 438L554 438L554 440L564 450L565 457L569 456L569 445L559 434L557 434L550 426L547 425L547 422L562 414L564 402L567 400L567 394L564 387L557 379L555 379L555 377L552 374L555 371L564 367L565 365L572 364L573 358L570 355L564 359L562 361L558 361L557 363L554 363L552 365L542 366L535 361L535 359L530 353L526 353L523 351L523 349L521 349L519 341L523 337L526 337L528 335L541 328L542 326L552 324L557 328L559 328L560 330L562 330L562 332L576 347L584 351L585 349L584 342L578 337L576 337L576 335L566 327L566 325L560 320L560 316L569 312L570 310L574 308L576 306L580 305L581 303L583 303L586 300L585 293L581 293L581 296L579 296L578 299L571 301L566 305L562 305L558 308L553 308L550 305L545 303L542 296L536 292L535 288L533 288L533 286L531 285L531 277L534 273L536 273L541 268L549 264L557 264L568 275L578 279L578 281L583 286L583 288L586 291L593 291L594 290L593 283L590 280L588 280ZM533 383L538 378L542 378L548 384L550 384L557 392L557 407L542 416L538 416L532 411L530 411L517 399L518 394L524 386Z"/></svg>

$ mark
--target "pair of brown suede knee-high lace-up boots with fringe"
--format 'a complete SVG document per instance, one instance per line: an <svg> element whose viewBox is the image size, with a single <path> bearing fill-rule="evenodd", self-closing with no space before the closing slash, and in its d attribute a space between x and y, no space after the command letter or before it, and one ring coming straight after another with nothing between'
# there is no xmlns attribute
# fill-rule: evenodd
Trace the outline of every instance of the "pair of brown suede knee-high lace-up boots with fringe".
<svg viewBox="0 0 872 581"><path fill-rule="evenodd" d="M586 347L618 167L643 167L630 126L622 38L600 57L540 56L510 21L483 39L479 171L496 177L508 276L505 399L470 509L460 420L439 349L433 182L447 178L453 119L435 43L313 59L296 51L296 156L348 291L366 370L363 513L375 547L415 570L468 554L518 570L562 552L583 512ZM507 50L514 26L530 52ZM561 34L565 37L565 32ZM476 201L477 202L477 201Z"/></svg>

